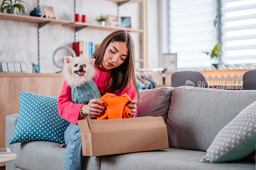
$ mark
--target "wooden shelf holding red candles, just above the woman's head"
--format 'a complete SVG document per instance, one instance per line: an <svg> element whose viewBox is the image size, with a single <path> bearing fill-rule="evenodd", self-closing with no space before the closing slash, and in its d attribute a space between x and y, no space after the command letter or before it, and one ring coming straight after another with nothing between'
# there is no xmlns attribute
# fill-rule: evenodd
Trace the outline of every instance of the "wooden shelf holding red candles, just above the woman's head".
<svg viewBox="0 0 256 170"><path fill-rule="evenodd" d="M101 26L101 25L97 25L97 24L90 24L90 23L84 23L84 22L73 22L73 23L63 24L63 26L78 28L77 31L86 27L89 29L98 29L98 30L107 30L107 31L125 30L125 31L129 31L129 32L137 32L137 33L144 32L141 29L134 30L131 28L124 28L124 27L117 27L117 26Z"/></svg>

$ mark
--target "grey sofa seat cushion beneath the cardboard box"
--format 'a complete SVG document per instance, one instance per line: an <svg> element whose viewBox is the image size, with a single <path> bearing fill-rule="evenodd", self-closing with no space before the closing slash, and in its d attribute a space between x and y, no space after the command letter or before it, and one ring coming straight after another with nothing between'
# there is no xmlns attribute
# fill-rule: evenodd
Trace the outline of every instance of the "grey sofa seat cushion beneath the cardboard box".
<svg viewBox="0 0 256 170"><path fill-rule="evenodd" d="M255 169L255 162L205 164L197 162L206 152L183 149L161 149L148 152L103 156L101 169Z"/></svg>

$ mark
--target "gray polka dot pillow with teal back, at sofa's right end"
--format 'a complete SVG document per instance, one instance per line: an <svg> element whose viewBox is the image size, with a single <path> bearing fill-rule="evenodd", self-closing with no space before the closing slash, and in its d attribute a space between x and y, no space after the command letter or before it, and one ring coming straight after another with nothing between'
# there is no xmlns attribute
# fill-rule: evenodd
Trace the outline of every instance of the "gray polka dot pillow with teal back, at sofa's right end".
<svg viewBox="0 0 256 170"><path fill-rule="evenodd" d="M255 151L255 143L256 101L220 130L206 150L207 154L198 162L221 163L242 159Z"/></svg>

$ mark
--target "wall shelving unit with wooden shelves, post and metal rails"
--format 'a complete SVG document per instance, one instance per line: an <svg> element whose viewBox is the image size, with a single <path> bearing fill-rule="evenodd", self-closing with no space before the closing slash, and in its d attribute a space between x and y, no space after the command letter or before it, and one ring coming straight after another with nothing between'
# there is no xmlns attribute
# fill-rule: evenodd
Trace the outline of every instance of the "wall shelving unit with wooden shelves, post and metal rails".
<svg viewBox="0 0 256 170"><path fill-rule="evenodd" d="M143 3L142 4L142 18L143 18L143 29L132 29L132 28L124 28L124 27L115 27L115 26L101 26L97 24L90 24L90 23L83 23L83 22L73 22L69 23L68 20L60 20L60 19L47 19L42 17L34 17L34 16L27 16L27 15L17 15L17 14L7 14L7 13L0 13L0 19L6 20L13 20L13 21L22 21L22 22L29 22L29 23L38 23L38 64L41 64L41 28L46 24L56 25L61 24L67 27L75 28L75 42L77 40L77 31L88 28L88 29L97 29L97 30L106 30L106 31L116 31L116 30L125 30L131 33L141 33L141 58L137 59L136 62L140 63L141 68L147 68L147 0L107 0L117 3L117 16L120 18L119 14L119 6L123 4L130 4L130 3ZM37 9L40 10L40 0L37 1ZM76 12L76 0L74 0L74 6Z"/></svg>

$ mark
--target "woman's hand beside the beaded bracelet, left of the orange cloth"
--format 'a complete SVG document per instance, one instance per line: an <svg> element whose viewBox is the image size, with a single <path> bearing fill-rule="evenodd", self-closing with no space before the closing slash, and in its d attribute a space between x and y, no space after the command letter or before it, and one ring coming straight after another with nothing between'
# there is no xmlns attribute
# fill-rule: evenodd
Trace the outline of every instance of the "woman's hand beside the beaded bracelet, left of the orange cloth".
<svg viewBox="0 0 256 170"><path fill-rule="evenodd" d="M103 115L107 109L104 105L105 103L100 99L91 99L87 105L82 107L83 114Z"/></svg>

